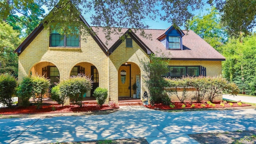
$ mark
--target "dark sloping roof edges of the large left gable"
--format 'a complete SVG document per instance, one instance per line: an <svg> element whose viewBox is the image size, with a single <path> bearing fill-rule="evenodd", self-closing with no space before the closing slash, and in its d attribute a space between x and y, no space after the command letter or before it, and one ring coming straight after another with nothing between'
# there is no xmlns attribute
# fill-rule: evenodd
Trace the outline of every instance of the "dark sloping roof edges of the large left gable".
<svg viewBox="0 0 256 144"><path fill-rule="evenodd" d="M84 24L90 28L89 24L84 20L83 16L80 14L80 20L84 22ZM25 48L36 38L36 36L44 29L43 24L39 24L29 35L28 37L14 50L18 54L18 56L25 50ZM100 46L102 51L107 55L108 48L104 45L104 43L98 38L93 30L91 30L90 35L96 41L96 43Z"/></svg>

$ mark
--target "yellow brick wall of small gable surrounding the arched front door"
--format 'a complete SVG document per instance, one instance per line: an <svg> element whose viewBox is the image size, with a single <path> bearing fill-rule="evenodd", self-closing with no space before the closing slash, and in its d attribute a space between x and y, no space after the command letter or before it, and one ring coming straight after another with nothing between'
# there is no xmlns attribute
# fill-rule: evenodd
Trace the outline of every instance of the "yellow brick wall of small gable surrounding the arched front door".
<svg viewBox="0 0 256 144"><path fill-rule="evenodd" d="M148 55L134 40L132 41L132 48L126 48L126 41L122 42L116 50L109 56L109 95L110 98L117 100L118 99L118 70L122 64L128 62L131 64L131 76L132 76L132 84L136 80L136 75L140 74L140 95L143 94L144 91L148 91L145 83L144 76L145 73L141 68L140 60L149 60ZM132 91L133 94L133 91Z"/></svg>

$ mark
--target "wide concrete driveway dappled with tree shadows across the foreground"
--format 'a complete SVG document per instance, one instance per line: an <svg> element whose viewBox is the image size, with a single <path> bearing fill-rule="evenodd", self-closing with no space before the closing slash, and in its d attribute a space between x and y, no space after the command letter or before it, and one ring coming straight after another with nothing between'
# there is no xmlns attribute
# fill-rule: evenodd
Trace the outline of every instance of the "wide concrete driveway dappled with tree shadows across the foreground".
<svg viewBox="0 0 256 144"><path fill-rule="evenodd" d="M188 134L256 130L256 109L161 112L123 106L108 115L0 119L0 144L146 138L150 144L198 144Z"/></svg>

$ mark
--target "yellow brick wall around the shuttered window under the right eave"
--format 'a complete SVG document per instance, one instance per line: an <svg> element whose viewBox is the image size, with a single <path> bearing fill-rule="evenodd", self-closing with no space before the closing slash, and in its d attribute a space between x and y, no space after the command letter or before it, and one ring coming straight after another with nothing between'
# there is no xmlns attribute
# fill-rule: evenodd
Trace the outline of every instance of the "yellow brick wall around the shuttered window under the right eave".
<svg viewBox="0 0 256 144"><path fill-rule="evenodd" d="M170 60L169 66L204 66L206 68L206 76L222 74L221 61Z"/></svg>

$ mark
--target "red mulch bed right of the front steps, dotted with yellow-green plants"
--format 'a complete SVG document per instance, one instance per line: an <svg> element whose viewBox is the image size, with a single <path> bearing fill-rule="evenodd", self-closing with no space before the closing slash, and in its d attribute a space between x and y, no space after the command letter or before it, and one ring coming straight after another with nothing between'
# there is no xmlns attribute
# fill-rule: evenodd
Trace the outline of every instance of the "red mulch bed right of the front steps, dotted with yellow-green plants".
<svg viewBox="0 0 256 144"><path fill-rule="evenodd" d="M220 102L221 101L216 101L216 102L212 102L213 104L215 104L215 106L210 106L209 104L207 104L206 102L205 103L205 107L204 108L231 108L231 107L242 107L242 106L251 106L250 104L242 104L242 106L238 106L238 104L236 102L232 102L233 103L233 106L230 106L228 103L227 104L224 104L224 106L220 106ZM154 106L151 106L151 105L144 105L146 108L150 108L150 109L159 109L159 110L177 110L177 109L188 109L188 108L191 108L190 106L192 104L195 105L194 108L203 108L201 106L202 103L196 103L196 102L186 102L186 107L185 108L182 108L181 106L184 104L184 103L181 103L181 102L174 102L172 103L175 105L175 108L170 108L170 106L166 106L164 104L155 104Z"/></svg>

